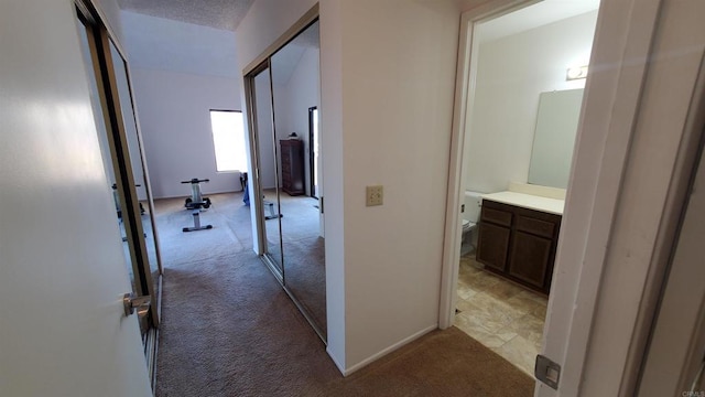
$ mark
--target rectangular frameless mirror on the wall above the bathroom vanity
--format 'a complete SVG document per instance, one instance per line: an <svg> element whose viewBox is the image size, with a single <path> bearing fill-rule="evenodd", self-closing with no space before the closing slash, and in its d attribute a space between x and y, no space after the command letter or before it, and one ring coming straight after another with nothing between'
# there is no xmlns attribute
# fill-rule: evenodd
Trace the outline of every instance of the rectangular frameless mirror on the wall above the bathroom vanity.
<svg viewBox="0 0 705 397"><path fill-rule="evenodd" d="M583 88L541 93L529 183L567 187L582 104Z"/></svg>

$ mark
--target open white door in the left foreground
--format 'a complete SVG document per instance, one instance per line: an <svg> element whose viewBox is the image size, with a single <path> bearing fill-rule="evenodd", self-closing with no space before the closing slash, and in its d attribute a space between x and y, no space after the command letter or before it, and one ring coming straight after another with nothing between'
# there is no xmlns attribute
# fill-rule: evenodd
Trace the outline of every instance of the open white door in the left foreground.
<svg viewBox="0 0 705 397"><path fill-rule="evenodd" d="M0 395L150 396L75 19L0 3Z"/></svg>

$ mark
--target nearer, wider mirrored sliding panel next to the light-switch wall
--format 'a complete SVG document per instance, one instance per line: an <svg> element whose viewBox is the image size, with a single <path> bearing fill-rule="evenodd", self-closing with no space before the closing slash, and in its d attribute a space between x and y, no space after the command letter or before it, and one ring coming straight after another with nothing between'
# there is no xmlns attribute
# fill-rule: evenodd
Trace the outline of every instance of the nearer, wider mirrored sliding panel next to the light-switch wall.
<svg viewBox="0 0 705 397"><path fill-rule="evenodd" d="M317 167L317 109L321 105L318 21L276 51L270 62L274 146L279 151L276 162L281 170L284 286L325 340L325 255L314 169ZM313 115L312 109L315 110ZM315 133L310 131L311 117L315 118ZM313 164L310 161L312 155Z"/></svg>

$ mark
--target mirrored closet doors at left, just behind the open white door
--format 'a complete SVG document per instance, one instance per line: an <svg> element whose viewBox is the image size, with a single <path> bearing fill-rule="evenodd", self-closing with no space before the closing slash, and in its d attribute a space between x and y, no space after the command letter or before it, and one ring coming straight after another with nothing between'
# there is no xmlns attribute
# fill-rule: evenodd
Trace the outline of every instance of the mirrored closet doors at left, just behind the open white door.
<svg viewBox="0 0 705 397"><path fill-rule="evenodd" d="M148 362L153 368L161 265L128 67L95 10L77 3L76 11L91 88L91 110L108 180L106 190L115 200L116 227L120 229L132 293L149 297L150 301L139 322Z"/></svg>

